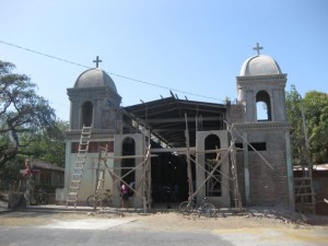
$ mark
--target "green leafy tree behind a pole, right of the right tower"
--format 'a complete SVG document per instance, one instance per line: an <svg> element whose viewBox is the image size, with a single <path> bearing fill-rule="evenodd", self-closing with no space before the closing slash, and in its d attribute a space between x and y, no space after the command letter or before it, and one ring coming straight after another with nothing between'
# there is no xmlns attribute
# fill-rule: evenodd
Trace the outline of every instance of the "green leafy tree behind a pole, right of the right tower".
<svg viewBox="0 0 328 246"><path fill-rule="evenodd" d="M305 133L302 120L304 109L306 133L308 137L309 152L306 150ZM305 97L296 91L295 85L286 92L286 114L291 124L291 147L294 165L307 162L321 164L328 162L328 94L321 92L307 92Z"/></svg>

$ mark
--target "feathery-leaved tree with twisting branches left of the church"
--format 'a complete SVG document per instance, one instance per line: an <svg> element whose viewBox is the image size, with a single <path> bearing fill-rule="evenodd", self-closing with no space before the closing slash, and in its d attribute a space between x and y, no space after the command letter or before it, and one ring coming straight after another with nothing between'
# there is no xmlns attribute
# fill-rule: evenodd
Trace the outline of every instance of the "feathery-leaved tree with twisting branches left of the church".
<svg viewBox="0 0 328 246"><path fill-rule="evenodd" d="M56 120L48 102L35 93L36 85L28 77L13 73L14 68L0 61L0 167L24 153Z"/></svg>

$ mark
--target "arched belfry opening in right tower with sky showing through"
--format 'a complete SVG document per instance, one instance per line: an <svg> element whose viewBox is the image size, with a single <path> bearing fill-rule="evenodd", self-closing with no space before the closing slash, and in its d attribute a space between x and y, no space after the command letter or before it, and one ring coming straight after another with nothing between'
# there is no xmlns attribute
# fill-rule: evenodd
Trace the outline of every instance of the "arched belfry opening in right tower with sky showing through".
<svg viewBox="0 0 328 246"><path fill-rule="evenodd" d="M256 113L257 121L272 120L271 115L271 99L266 91L259 91L256 94Z"/></svg>

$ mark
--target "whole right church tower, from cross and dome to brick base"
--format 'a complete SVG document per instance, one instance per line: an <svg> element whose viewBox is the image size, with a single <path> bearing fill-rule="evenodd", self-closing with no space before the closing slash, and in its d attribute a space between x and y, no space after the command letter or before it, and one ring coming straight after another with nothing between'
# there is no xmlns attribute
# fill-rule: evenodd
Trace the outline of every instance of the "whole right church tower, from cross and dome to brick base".
<svg viewBox="0 0 328 246"><path fill-rule="evenodd" d="M260 55L262 47L254 49L257 55L246 59L236 78L238 110L232 117L243 149L238 159L245 203L294 208L286 74L273 58Z"/></svg>

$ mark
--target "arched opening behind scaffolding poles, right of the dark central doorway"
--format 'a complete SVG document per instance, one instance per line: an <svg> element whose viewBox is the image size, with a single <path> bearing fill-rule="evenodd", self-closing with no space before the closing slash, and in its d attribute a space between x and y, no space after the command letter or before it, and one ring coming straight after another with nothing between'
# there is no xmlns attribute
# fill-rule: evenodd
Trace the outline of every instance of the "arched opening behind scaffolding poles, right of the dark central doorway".
<svg viewBox="0 0 328 246"><path fill-rule="evenodd" d="M220 138L216 134L209 134L204 139L204 150L215 150L221 148ZM216 165L215 162L216 153L206 153L204 155L204 168L206 168L206 178L208 177L208 172L212 172L213 167ZM212 177L206 184L206 196L207 197L221 197L221 168L218 167Z"/></svg>

